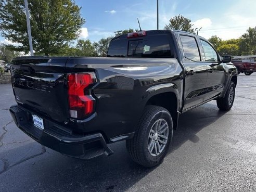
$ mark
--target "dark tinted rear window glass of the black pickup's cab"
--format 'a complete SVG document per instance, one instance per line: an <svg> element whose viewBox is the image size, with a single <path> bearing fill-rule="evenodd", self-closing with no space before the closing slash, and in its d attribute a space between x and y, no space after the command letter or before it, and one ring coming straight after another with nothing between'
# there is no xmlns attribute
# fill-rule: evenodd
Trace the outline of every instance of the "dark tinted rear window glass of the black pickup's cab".
<svg viewBox="0 0 256 192"><path fill-rule="evenodd" d="M174 58L168 35L151 35L140 40L114 40L110 43L108 57L159 57Z"/></svg>

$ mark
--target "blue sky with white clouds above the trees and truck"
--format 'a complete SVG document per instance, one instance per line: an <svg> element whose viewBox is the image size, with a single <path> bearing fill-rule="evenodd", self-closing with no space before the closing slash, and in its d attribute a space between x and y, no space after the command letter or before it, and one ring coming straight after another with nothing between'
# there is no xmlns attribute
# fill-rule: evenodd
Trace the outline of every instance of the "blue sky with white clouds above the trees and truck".
<svg viewBox="0 0 256 192"><path fill-rule="evenodd" d="M144 30L157 28L157 0L76 0L82 7L81 14L86 20L81 39L98 41L114 35L113 31L138 29L137 18ZM201 28L199 35L209 39L212 35L223 40L237 38L249 27L256 26L255 0L215 0L215 1L168 1L159 0L159 29L171 17L181 14L191 19L194 28ZM11 43L0 37L0 42Z"/></svg>

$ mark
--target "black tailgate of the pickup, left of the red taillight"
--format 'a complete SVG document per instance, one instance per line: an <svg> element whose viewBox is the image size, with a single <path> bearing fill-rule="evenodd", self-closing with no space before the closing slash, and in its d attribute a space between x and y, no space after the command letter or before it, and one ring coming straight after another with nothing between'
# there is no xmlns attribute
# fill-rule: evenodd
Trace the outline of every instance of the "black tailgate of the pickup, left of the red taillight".
<svg viewBox="0 0 256 192"><path fill-rule="evenodd" d="M57 122L69 118L65 64L67 58L17 58L11 61L12 86L18 104Z"/></svg>

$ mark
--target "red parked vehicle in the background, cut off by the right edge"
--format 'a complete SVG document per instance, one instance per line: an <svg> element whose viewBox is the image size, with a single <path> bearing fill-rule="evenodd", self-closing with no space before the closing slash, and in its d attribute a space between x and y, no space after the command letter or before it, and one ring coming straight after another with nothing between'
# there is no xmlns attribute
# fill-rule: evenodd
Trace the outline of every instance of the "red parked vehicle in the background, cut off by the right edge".
<svg viewBox="0 0 256 192"><path fill-rule="evenodd" d="M250 75L256 71L256 62L242 62L241 59L232 59L234 66L237 68L237 74L245 73L245 75Z"/></svg>

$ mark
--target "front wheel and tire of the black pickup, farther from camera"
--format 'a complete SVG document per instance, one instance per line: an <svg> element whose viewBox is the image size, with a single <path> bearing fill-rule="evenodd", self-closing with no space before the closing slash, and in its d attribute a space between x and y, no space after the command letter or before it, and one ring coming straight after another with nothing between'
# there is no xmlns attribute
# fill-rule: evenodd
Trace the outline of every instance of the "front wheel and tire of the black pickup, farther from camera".
<svg viewBox="0 0 256 192"><path fill-rule="evenodd" d="M225 96L221 98L217 98L217 107L220 110L223 110L223 111L231 110L235 100L235 88L236 88L235 83L231 81L229 83Z"/></svg>

